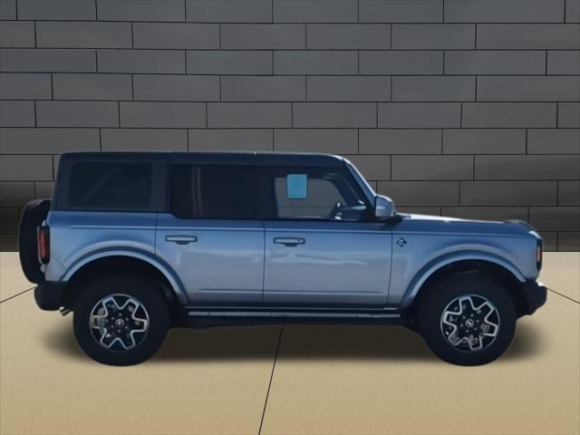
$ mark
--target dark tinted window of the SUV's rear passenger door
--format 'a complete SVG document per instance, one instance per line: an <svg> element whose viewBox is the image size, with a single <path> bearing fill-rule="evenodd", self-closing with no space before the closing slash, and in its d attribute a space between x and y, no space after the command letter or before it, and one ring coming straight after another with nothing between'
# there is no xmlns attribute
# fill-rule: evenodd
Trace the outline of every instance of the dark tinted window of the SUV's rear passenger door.
<svg viewBox="0 0 580 435"><path fill-rule="evenodd" d="M169 208L177 218L259 220L261 171L254 166L173 165Z"/></svg>

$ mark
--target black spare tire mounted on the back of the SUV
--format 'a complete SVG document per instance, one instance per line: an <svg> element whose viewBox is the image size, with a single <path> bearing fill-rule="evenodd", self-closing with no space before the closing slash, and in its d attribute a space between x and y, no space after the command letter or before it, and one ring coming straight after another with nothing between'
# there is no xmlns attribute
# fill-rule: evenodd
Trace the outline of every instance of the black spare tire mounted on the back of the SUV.
<svg viewBox="0 0 580 435"><path fill-rule="evenodd" d="M48 215L51 207L50 199L35 199L24 206L18 228L18 253L20 265L26 279L32 283L43 283L44 274L40 270L38 261L38 247L36 242L36 230Z"/></svg>

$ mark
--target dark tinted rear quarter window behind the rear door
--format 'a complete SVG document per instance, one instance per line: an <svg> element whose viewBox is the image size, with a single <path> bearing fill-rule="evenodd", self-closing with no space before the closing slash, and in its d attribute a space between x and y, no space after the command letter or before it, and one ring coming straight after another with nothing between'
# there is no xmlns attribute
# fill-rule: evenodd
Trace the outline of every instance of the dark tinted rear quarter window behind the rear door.
<svg viewBox="0 0 580 435"><path fill-rule="evenodd" d="M78 162L71 168L68 208L146 211L151 206L152 165Z"/></svg>

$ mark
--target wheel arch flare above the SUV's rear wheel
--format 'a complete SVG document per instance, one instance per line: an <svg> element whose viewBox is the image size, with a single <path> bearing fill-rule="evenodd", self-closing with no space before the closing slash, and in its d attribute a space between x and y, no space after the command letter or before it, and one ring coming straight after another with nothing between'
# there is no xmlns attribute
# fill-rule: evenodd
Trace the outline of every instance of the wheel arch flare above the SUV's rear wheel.
<svg viewBox="0 0 580 435"><path fill-rule="evenodd" d="M145 277L155 283L169 304L186 304L185 293L177 278L169 270L148 261L141 256L114 254L98 256L82 262L65 275L64 301L73 307L82 285L102 275L135 275Z"/></svg>

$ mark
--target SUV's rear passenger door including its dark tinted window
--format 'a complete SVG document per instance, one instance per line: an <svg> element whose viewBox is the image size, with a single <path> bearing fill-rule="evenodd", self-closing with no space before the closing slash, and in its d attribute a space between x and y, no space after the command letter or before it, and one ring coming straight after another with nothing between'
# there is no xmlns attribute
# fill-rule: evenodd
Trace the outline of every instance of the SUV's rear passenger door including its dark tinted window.
<svg viewBox="0 0 580 435"><path fill-rule="evenodd" d="M156 249L192 305L261 302L264 227L260 172L253 166L171 164L169 212Z"/></svg>

